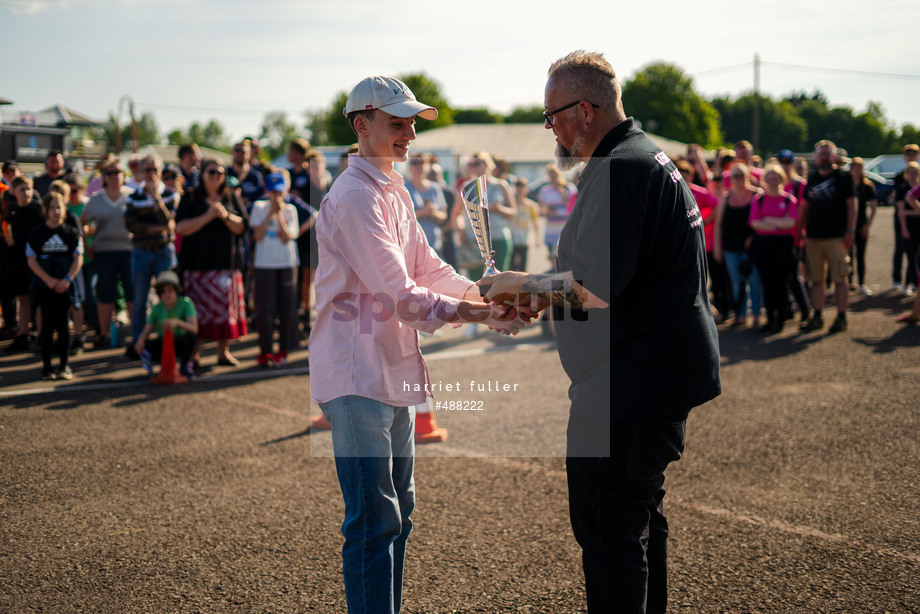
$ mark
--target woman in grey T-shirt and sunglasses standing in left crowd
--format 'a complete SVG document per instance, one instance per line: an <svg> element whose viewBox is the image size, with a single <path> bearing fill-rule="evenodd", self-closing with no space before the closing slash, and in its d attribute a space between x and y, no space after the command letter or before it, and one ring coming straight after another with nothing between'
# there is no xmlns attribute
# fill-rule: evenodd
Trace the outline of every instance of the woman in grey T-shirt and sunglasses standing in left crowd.
<svg viewBox="0 0 920 614"><path fill-rule="evenodd" d="M128 194L124 172L113 158L102 167L102 189L89 199L80 217L86 234L92 237L90 254L96 271L96 313L99 336L96 349L111 347L109 331L115 314L115 298L121 283L127 298L128 313L134 309L134 284L131 277L131 235L125 225ZM89 284L92 286L92 283ZM117 340L116 340L117 341Z"/></svg>

